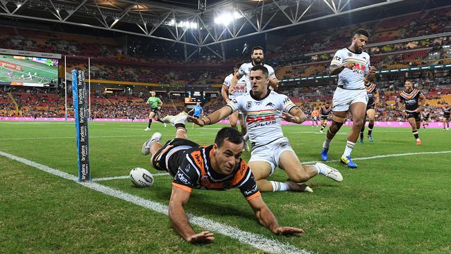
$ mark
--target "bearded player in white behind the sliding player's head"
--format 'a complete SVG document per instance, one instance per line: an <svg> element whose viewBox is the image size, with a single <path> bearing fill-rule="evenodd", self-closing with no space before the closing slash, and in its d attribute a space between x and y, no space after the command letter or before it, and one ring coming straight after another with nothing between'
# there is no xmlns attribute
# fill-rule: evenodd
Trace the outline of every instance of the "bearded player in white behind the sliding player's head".
<svg viewBox="0 0 451 254"><path fill-rule="evenodd" d="M246 92L249 92L252 90L252 84L249 80L249 74L250 69L256 65L262 65L268 69L269 74L269 85L273 87L273 89L277 89L279 85L279 80L275 77L275 72L273 67L266 65L263 63L264 60L264 54L263 54L263 48L261 46L255 46L252 49L252 54L250 55L250 59L252 59L252 62L246 62L239 67L239 70L235 73L235 75L232 77L232 81L230 83L229 87L229 94L233 93L235 85L237 85L237 82L241 77L246 78Z"/></svg>

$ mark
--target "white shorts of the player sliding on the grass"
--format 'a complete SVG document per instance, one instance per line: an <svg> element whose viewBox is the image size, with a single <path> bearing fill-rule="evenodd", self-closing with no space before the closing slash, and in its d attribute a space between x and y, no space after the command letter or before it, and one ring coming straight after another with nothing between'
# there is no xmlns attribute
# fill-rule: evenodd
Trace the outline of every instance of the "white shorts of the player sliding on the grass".
<svg viewBox="0 0 451 254"><path fill-rule="evenodd" d="M292 151L294 153L287 137L282 137L266 146L258 146L252 149L249 162L268 162L271 165L271 176L275 168L279 166L280 155L283 151Z"/></svg>

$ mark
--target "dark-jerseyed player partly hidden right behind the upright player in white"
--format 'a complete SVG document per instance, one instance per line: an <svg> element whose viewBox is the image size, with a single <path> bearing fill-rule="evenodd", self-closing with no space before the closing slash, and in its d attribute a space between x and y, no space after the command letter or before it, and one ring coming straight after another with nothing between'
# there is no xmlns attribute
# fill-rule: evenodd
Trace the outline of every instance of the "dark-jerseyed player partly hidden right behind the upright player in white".
<svg viewBox="0 0 451 254"><path fill-rule="evenodd" d="M375 108L377 105L379 105L379 92L377 92L377 86L375 83L371 83L366 78L364 78L366 93L368 94L368 103L366 104L366 117L368 117L368 139L370 139L370 142L373 142L373 136L371 133L373 132L374 128L374 121L375 121ZM366 117L364 119L366 119ZM365 124L361 126L360 129L360 139L359 143L362 144L364 142L364 131L365 131Z"/></svg>

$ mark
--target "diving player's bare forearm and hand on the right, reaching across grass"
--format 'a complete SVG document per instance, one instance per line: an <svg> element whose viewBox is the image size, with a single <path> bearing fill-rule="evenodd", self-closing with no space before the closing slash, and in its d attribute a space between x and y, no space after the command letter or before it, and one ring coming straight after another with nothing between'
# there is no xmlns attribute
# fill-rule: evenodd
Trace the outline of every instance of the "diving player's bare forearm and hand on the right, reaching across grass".
<svg viewBox="0 0 451 254"><path fill-rule="evenodd" d="M303 233L302 228L293 227L281 227L274 214L269 210L268 206L264 203L262 196L257 196L248 200L250 207L254 210L255 216L262 226L268 228L276 235L293 235Z"/></svg>

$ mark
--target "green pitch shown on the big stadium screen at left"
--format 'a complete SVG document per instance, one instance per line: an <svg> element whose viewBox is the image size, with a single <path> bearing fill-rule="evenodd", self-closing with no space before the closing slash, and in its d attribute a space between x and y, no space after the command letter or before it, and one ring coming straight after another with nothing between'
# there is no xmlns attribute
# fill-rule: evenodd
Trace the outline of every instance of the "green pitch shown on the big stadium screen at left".
<svg viewBox="0 0 451 254"><path fill-rule="evenodd" d="M9 62L13 65L22 66L22 71L14 71L11 78L8 78L10 69L0 69L0 82L27 82L27 83L49 83L49 81L58 80L58 66L47 66L40 62L31 60L14 59L12 56L0 55L0 60ZM28 72L31 73L32 79L28 78ZM33 76L36 73L36 76ZM22 78L24 74L24 78ZM42 81L42 78L45 78Z"/></svg>

